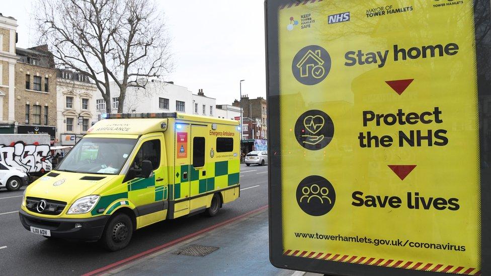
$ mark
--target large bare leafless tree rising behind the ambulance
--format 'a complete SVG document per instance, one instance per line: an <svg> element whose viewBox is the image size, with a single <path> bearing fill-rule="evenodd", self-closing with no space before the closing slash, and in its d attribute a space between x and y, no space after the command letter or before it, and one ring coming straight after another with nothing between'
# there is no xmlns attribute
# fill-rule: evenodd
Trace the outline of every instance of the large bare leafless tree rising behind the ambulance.
<svg viewBox="0 0 491 276"><path fill-rule="evenodd" d="M40 43L58 67L89 76L111 113L110 82L119 88L118 112L128 87L172 70L170 39L154 0L38 0Z"/></svg>

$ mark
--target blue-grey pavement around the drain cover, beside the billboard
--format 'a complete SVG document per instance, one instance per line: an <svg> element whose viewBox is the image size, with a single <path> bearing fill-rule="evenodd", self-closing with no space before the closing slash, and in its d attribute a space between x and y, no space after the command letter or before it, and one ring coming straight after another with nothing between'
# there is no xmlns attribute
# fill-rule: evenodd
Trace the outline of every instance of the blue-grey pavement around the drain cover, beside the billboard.
<svg viewBox="0 0 491 276"><path fill-rule="evenodd" d="M304 275L269 262L268 210L162 249L104 275ZM219 247L205 256L175 254L190 245ZM307 275L319 275L307 273Z"/></svg>

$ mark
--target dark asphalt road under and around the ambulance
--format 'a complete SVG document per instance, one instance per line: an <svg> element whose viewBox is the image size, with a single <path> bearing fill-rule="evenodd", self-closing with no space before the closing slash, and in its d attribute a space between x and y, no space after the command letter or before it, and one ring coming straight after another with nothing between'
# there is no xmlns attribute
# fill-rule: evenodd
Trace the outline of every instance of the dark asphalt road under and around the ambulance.
<svg viewBox="0 0 491 276"><path fill-rule="evenodd" d="M23 191L2 189L0 275L83 274L267 205L267 166L241 164L240 169L240 198L224 205L217 216L196 215L150 225L136 231L128 247L117 252L105 251L97 243L46 240L31 234L19 221Z"/></svg>

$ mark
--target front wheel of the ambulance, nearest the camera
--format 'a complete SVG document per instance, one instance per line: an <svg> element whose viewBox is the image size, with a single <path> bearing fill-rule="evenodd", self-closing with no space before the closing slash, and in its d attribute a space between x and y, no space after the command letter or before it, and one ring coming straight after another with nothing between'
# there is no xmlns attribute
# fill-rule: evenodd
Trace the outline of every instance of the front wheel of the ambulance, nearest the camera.
<svg viewBox="0 0 491 276"><path fill-rule="evenodd" d="M109 219L99 242L109 251L118 251L130 243L132 235L133 223L130 217L124 213L119 213Z"/></svg>

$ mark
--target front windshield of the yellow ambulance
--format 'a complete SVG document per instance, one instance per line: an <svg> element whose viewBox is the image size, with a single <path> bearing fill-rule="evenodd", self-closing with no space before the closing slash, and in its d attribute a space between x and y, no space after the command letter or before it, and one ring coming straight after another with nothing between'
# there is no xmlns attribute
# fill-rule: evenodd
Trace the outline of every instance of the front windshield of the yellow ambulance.
<svg viewBox="0 0 491 276"><path fill-rule="evenodd" d="M56 170L117 174L135 147L137 139L82 138Z"/></svg>

